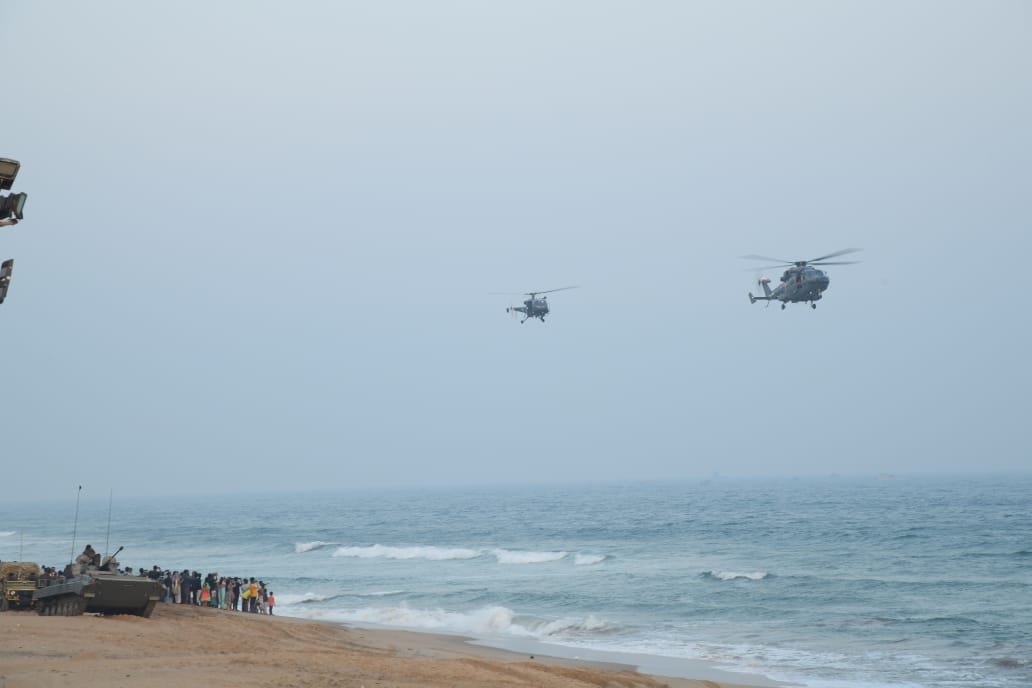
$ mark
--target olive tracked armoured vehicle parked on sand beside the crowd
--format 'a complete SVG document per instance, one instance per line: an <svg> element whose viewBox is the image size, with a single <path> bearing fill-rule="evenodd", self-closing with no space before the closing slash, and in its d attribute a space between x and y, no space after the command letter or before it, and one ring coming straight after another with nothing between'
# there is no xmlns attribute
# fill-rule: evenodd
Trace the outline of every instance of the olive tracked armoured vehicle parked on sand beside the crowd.
<svg viewBox="0 0 1032 688"><path fill-rule="evenodd" d="M68 564L65 574L64 581L33 593L40 616L70 617L90 613L149 617L164 592L160 581L92 566L83 570L76 564Z"/></svg>

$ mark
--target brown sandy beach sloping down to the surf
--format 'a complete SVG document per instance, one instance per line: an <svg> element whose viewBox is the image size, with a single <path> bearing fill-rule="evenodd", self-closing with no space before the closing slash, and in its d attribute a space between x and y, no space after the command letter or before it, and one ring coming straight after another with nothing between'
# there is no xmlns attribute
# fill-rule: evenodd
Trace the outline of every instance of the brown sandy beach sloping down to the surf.
<svg viewBox="0 0 1032 688"><path fill-rule="evenodd" d="M133 616L0 614L0 688L733 688L460 637L160 604Z"/></svg>

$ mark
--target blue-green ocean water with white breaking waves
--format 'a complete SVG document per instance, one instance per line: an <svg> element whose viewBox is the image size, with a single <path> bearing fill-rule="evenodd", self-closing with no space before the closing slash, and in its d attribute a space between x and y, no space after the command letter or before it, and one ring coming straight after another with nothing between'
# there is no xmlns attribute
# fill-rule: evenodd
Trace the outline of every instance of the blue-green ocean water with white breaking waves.
<svg viewBox="0 0 1032 688"><path fill-rule="evenodd" d="M0 503L0 559L63 564L74 530L126 565L261 578L283 615L667 675L1032 686L1030 474L103 495L77 522L74 497Z"/></svg>

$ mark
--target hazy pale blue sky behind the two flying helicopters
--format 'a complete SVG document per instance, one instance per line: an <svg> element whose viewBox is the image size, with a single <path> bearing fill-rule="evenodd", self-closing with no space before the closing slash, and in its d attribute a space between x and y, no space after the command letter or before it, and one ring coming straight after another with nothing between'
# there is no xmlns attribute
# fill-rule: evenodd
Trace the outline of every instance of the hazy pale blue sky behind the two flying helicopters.
<svg viewBox="0 0 1032 688"><path fill-rule="evenodd" d="M1027 2L6 0L0 44L10 498L1032 467ZM846 248L749 304L742 255Z"/></svg>

